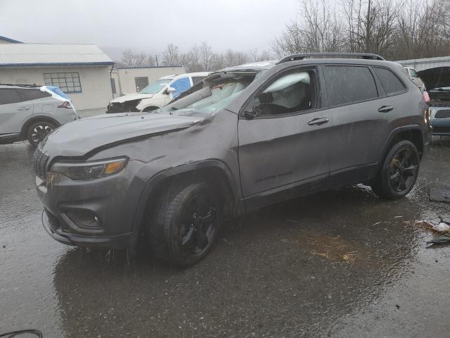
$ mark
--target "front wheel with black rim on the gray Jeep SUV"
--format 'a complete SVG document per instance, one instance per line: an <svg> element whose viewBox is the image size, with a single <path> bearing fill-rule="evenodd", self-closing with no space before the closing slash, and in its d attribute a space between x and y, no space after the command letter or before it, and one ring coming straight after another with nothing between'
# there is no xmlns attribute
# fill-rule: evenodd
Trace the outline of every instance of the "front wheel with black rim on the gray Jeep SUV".
<svg viewBox="0 0 450 338"><path fill-rule="evenodd" d="M201 261L221 223L217 194L208 184L175 184L160 198L150 217L150 244L158 258L181 267Z"/></svg>

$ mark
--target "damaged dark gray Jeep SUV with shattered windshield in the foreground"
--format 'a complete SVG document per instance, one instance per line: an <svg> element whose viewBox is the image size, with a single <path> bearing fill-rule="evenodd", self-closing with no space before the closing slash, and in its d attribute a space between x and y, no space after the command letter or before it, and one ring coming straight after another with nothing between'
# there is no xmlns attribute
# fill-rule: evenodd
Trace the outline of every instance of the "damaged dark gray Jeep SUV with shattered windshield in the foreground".
<svg viewBox="0 0 450 338"><path fill-rule="evenodd" d="M364 183L398 199L430 144L428 108L374 54L298 54L213 73L153 113L54 130L34 154L44 227L77 246L134 248L180 266L225 219Z"/></svg>

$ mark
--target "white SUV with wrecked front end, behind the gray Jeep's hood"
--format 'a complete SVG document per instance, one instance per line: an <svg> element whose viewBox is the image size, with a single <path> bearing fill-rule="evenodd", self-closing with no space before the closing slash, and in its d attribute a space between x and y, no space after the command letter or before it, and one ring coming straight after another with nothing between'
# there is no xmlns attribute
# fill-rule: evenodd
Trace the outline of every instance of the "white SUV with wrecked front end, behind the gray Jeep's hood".
<svg viewBox="0 0 450 338"><path fill-rule="evenodd" d="M191 88L210 72L168 75L148 84L135 94L124 94L110 101L107 113L124 111L153 111L169 103L170 100Z"/></svg>

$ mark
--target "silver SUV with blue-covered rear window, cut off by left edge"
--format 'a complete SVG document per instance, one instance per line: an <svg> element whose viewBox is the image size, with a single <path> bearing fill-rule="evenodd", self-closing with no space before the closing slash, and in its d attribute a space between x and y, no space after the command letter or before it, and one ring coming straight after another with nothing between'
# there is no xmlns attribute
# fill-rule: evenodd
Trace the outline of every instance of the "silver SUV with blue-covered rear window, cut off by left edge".
<svg viewBox="0 0 450 338"><path fill-rule="evenodd" d="M0 84L0 144L27 139L37 146L53 129L78 118L58 87Z"/></svg>

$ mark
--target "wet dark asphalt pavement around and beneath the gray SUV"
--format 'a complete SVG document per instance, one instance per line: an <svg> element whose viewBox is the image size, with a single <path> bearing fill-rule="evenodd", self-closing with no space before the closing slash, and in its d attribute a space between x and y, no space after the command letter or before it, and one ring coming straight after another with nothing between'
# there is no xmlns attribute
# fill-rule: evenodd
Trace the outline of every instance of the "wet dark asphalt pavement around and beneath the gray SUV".
<svg viewBox="0 0 450 338"><path fill-rule="evenodd" d="M0 146L0 333L44 337L450 337L450 245L414 220L450 219L435 140L408 198L364 186L264 208L224 228L205 261L86 251L41 227L31 146Z"/></svg>

